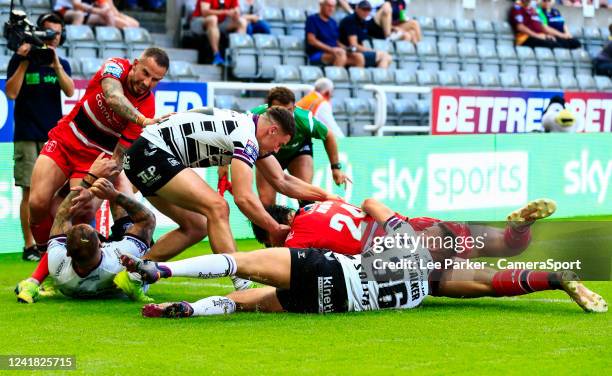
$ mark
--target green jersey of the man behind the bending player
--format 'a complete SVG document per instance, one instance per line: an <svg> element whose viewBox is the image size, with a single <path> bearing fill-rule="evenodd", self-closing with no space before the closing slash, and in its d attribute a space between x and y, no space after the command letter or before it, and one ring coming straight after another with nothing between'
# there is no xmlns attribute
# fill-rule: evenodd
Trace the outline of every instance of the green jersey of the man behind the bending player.
<svg viewBox="0 0 612 376"><path fill-rule="evenodd" d="M261 115L268 109L267 104L262 104L251 109L251 113ZM295 136L283 146L276 158L282 162L288 162L291 157L296 155L304 146L312 144L312 138L325 141L327 138L327 127L319 120L315 119L312 112L296 107L293 111L295 119Z"/></svg>

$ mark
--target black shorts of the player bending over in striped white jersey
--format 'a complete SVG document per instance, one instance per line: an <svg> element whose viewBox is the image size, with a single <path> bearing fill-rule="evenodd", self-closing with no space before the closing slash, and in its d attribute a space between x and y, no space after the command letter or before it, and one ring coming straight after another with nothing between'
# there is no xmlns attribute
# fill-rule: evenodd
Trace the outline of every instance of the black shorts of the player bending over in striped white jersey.
<svg viewBox="0 0 612 376"><path fill-rule="evenodd" d="M134 141L123 158L125 174L145 197L155 196L155 192L185 168L174 155L144 137Z"/></svg>

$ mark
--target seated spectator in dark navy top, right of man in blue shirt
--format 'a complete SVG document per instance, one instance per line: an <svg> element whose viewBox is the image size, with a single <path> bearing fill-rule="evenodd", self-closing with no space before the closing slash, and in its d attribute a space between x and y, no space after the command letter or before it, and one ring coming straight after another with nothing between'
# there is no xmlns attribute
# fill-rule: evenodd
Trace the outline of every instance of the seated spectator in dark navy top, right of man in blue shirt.
<svg viewBox="0 0 612 376"><path fill-rule="evenodd" d="M355 12L344 17L340 21L340 43L363 54L366 67L388 68L392 58L385 51L374 51L363 45L363 41L368 39L368 21L372 11L372 5L367 0L357 4Z"/></svg>

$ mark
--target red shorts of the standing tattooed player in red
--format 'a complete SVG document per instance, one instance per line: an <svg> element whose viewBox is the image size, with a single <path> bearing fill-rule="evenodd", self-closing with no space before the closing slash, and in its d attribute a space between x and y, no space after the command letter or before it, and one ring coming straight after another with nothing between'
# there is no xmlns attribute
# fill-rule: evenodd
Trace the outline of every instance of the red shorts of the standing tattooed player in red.
<svg viewBox="0 0 612 376"><path fill-rule="evenodd" d="M80 179L87 175L89 167L101 152L83 145L67 124L58 124L49 132L49 141L40 155L53 159L67 179Z"/></svg>

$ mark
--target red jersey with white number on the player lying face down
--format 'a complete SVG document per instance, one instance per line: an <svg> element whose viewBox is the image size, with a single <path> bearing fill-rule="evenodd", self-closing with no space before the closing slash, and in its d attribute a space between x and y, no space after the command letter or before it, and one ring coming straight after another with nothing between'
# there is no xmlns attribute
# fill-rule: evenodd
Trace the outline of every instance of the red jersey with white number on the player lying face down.
<svg viewBox="0 0 612 376"><path fill-rule="evenodd" d="M427 217L404 219L415 231L424 230L440 222L439 219ZM357 206L343 201L318 202L298 210L285 246L326 248L345 255L357 255L362 249L362 234L368 234L374 224L372 217ZM384 229L376 227L373 235L383 235Z"/></svg>

